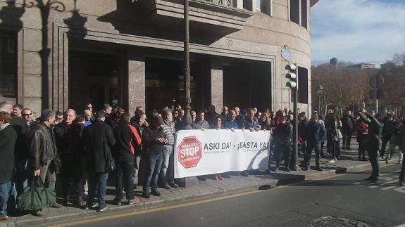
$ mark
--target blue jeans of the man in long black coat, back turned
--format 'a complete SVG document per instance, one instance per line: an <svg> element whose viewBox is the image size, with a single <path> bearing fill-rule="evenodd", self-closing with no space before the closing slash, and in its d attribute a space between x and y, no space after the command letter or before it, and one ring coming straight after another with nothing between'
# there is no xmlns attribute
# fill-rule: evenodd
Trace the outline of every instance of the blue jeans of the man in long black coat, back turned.
<svg viewBox="0 0 405 227"><path fill-rule="evenodd" d="M96 189L99 195L99 207L106 207L106 190L107 190L108 172L90 173L89 176L89 196L87 197L87 207L91 207L94 201Z"/></svg>

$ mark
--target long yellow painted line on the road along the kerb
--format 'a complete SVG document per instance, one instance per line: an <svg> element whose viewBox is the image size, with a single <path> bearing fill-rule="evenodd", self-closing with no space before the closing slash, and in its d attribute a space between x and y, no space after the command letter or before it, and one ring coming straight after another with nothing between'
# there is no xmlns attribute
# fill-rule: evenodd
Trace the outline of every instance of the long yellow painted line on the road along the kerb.
<svg viewBox="0 0 405 227"><path fill-rule="evenodd" d="M385 167L388 167L392 164L387 164L385 165ZM359 169L356 171L351 171L351 172L360 172L360 171L366 171L368 169L371 169L370 167L365 168L365 169ZM334 174L331 176L324 176L324 177L319 177L319 178L315 178L315 179L311 179L311 181L321 181L321 180L325 180L325 179L331 179L331 178L335 178L335 177L339 177L339 176L345 176L350 174ZM289 184L287 186L276 186L275 188L270 188L269 190L275 190L275 189L282 189L282 188L288 188L289 186L295 186L301 183L304 183L305 181L301 181L301 182L297 182L297 183L292 183ZM404 188L404 192L405 192L405 187ZM63 227L63 226L77 226L77 225L83 225L86 223L93 223L93 222L97 222L97 221L106 221L106 220L111 220L111 219L119 219L119 218L125 218L127 216L135 216L135 215L139 215L139 214L149 214L149 213L153 213L153 212L161 212L161 211L166 211L168 209L176 209L176 208L182 208L182 207L189 207L192 205L199 205L202 203L207 203L207 202L215 202L215 201L220 201L220 200L227 200L233 197L241 197L244 195L252 195L252 194L256 194L256 193L262 193L265 192L266 190L253 190L253 191L249 191L249 192L245 192L245 193L237 193L237 194L233 194L233 195L225 195L222 197L215 197L215 198L211 198L211 199L207 199L207 200L200 200L200 201L196 201L196 202L187 202L184 204L180 204L180 205L170 205L168 207L157 207L157 208L152 208L152 209L144 209L144 210L139 210L139 211L135 211L135 212L127 212L127 213L123 213L123 214L112 214L112 215L108 215L108 216L100 216L100 217L96 217L96 218L89 218L89 219L84 219L84 220L80 220L80 221L70 221L70 222L66 222L66 223L59 223L50 227Z"/></svg>

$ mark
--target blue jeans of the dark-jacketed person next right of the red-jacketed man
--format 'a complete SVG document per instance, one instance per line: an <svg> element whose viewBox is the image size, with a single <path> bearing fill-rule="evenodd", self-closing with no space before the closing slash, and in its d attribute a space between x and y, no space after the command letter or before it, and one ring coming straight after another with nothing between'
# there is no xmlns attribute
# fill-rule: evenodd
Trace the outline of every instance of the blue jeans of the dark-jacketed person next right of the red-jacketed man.
<svg viewBox="0 0 405 227"><path fill-rule="evenodd" d="M149 192L149 186L151 186L152 189L158 188L158 174L161 171L162 160L162 153L150 153L148 155L148 166L144 182L144 193Z"/></svg>

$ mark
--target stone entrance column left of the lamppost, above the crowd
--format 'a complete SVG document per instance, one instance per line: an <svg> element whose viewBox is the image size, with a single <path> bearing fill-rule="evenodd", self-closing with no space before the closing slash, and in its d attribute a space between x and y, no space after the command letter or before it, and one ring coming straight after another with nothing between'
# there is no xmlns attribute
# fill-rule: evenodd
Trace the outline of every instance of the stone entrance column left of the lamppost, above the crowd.
<svg viewBox="0 0 405 227"><path fill-rule="evenodd" d="M125 77L125 74L124 74ZM132 53L127 58L127 78L123 78L124 105L130 115L133 115L137 106L145 108L145 60Z"/></svg>

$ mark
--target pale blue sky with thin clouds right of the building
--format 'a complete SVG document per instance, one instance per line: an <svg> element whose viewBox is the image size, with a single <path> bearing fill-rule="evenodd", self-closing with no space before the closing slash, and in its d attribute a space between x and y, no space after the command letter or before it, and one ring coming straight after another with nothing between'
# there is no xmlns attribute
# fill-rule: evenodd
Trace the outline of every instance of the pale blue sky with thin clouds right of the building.
<svg viewBox="0 0 405 227"><path fill-rule="evenodd" d="M311 17L313 64L381 64L405 52L405 0L320 0Z"/></svg>

